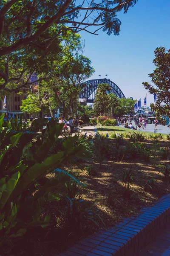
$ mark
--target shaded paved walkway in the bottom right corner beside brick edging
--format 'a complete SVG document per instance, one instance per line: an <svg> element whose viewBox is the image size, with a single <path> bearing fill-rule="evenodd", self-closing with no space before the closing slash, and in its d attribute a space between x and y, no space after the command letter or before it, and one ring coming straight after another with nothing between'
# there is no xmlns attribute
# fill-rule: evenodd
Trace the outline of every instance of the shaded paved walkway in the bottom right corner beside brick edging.
<svg viewBox="0 0 170 256"><path fill-rule="evenodd" d="M156 236L137 256L170 256L170 228Z"/></svg>

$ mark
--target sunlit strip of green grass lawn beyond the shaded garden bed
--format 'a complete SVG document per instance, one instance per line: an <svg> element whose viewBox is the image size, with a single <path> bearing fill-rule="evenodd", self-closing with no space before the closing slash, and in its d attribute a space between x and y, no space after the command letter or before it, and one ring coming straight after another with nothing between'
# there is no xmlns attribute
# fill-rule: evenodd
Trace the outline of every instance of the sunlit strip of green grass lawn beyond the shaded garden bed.
<svg viewBox="0 0 170 256"><path fill-rule="evenodd" d="M154 136L154 133L152 132L147 132L147 131L137 131L137 130L131 130L131 129L127 129L127 128L122 128L120 126L102 126L102 125L96 125L96 128L98 129L98 131L102 132L103 134L109 134L111 135L112 133L118 133L118 134L126 134L128 132L133 133L133 132L140 132L142 134L144 134L145 137L149 138L150 135ZM102 129L103 128L103 129ZM100 130L101 129L101 130ZM156 133L159 134L159 133ZM162 134L163 139L167 139L167 134Z"/></svg>

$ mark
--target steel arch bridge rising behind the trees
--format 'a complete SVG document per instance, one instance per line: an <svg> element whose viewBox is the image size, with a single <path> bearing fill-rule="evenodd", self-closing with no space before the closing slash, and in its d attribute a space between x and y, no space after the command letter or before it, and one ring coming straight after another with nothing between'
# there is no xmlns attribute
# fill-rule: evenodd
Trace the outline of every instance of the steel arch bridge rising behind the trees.
<svg viewBox="0 0 170 256"><path fill-rule="evenodd" d="M118 98L126 99L125 95L122 93L122 90L113 83L110 79L93 79L88 80L83 83L85 86L80 92L80 99L86 99L87 102L94 102L95 91L98 87L98 84L109 84L111 87L111 93L114 93Z"/></svg>

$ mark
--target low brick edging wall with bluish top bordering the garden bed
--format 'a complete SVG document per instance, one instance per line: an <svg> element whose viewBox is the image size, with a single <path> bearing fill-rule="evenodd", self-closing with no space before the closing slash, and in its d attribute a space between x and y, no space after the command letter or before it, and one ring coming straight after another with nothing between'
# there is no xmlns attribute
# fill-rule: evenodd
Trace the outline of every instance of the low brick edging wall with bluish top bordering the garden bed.
<svg viewBox="0 0 170 256"><path fill-rule="evenodd" d="M79 241L59 256L133 256L170 222L170 195L165 195L142 213L123 218L107 231Z"/></svg>

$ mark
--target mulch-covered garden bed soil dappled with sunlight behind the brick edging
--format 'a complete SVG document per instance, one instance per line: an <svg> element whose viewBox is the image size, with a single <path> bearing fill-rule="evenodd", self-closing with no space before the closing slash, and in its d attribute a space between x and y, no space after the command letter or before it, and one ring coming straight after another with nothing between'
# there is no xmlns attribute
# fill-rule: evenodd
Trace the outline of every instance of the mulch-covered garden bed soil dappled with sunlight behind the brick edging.
<svg viewBox="0 0 170 256"><path fill-rule="evenodd" d="M114 139L108 140L111 145L115 145ZM130 139L122 139L122 147L129 142ZM79 180L87 185L87 188L79 186L76 194L82 201L93 204L96 211L94 221L87 222L87 225L83 223L83 227L77 229L62 214L68 210L64 201L48 202L43 212L51 215L51 226L29 229L26 235L15 241L11 248L5 249L2 255L56 256L88 233L111 227L123 217L139 213L143 207L170 193L169 182L162 173L163 166L170 165L170 161L160 157L160 148L167 148L169 141L147 139L142 143L152 148L150 161L144 161L140 157L120 160L108 157L101 166L94 162L79 162L79 167L72 163L63 166L63 169L71 170L74 175L79 173ZM156 143L159 144L156 146ZM93 175L88 175L88 165L93 169ZM44 180L54 177L55 174L48 174ZM65 188L61 189L63 191Z"/></svg>

